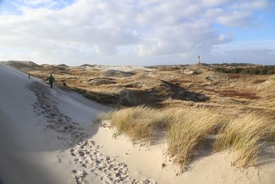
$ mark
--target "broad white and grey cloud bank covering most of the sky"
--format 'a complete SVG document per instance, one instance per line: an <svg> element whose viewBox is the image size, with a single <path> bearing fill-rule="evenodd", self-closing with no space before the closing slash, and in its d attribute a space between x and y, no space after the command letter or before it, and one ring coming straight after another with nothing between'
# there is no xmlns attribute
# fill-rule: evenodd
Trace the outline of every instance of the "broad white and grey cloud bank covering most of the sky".
<svg viewBox="0 0 275 184"><path fill-rule="evenodd" d="M260 0L252 8L241 8L248 1L238 2L239 8L229 0L23 0L22 14L0 15L0 49L9 50L0 59L188 61L234 39L230 32L217 32L214 24L245 27L252 11L265 7ZM56 5L63 7L52 8Z"/></svg>

